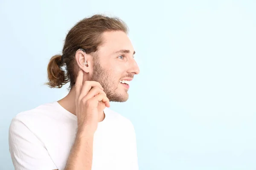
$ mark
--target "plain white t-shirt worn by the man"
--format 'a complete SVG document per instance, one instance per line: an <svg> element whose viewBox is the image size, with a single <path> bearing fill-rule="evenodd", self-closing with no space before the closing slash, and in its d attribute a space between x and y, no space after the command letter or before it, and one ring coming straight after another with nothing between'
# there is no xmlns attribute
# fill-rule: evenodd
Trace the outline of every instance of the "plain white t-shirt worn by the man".
<svg viewBox="0 0 256 170"><path fill-rule="evenodd" d="M104 113L94 133L92 170L138 170L131 121L109 108ZM77 117L58 102L17 114L9 128L15 170L64 170L76 129Z"/></svg>

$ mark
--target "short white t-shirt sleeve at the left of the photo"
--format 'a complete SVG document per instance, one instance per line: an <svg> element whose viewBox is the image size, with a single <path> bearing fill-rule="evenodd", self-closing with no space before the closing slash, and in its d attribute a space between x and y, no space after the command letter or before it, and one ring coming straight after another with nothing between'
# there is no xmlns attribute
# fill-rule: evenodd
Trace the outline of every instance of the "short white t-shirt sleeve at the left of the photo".
<svg viewBox="0 0 256 170"><path fill-rule="evenodd" d="M9 151L15 170L55 170L44 144L16 117L9 127Z"/></svg>

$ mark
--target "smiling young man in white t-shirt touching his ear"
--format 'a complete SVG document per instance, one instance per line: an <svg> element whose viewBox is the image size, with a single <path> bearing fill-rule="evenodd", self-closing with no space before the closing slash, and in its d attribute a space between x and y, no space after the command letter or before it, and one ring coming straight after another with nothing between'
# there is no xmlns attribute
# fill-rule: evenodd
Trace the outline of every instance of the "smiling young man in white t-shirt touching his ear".
<svg viewBox="0 0 256 170"><path fill-rule="evenodd" d="M109 109L109 102L128 99L129 82L140 72L134 54L122 20L79 21L47 68L47 85L70 82L69 94L12 119L15 170L138 170L134 127Z"/></svg>

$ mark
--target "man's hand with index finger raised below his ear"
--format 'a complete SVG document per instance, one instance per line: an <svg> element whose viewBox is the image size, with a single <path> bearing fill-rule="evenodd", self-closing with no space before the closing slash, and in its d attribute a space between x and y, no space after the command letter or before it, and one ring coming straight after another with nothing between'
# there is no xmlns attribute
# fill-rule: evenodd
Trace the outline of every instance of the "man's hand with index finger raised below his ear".
<svg viewBox="0 0 256 170"><path fill-rule="evenodd" d="M105 107L110 107L110 104L100 83L95 81L83 82L83 74L83 71L79 69L75 84L78 130L84 130L87 127L94 133L99 118L103 115L103 111L98 111L98 105L103 104Z"/></svg>

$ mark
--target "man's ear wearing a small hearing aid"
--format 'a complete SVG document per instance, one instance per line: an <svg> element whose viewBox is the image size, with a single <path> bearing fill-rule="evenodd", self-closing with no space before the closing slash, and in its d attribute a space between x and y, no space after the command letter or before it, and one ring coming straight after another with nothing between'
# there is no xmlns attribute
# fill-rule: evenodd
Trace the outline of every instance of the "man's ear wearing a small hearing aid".
<svg viewBox="0 0 256 170"><path fill-rule="evenodd" d="M90 65L91 65L91 56L89 54L86 54L82 50L76 51L75 54L76 63L83 70L85 73L89 73L90 71Z"/></svg>

